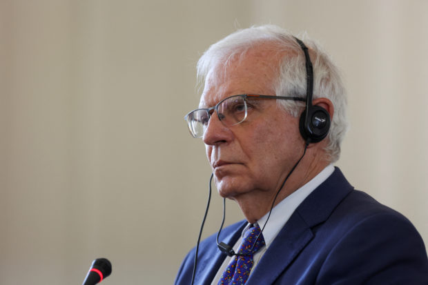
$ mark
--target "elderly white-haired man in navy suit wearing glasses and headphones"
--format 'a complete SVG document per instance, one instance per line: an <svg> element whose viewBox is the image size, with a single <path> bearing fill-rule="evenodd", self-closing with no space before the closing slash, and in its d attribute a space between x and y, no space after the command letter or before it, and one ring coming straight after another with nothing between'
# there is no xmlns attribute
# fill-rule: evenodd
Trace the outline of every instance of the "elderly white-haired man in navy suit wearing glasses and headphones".
<svg viewBox="0 0 428 285"><path fill-rule="evenodd" d="M414 226L332 165L346 97L315 43L276 26L240 30L197 70L204 91L186 120L246 221L191 250L175 284L428 284Z"/></svg>

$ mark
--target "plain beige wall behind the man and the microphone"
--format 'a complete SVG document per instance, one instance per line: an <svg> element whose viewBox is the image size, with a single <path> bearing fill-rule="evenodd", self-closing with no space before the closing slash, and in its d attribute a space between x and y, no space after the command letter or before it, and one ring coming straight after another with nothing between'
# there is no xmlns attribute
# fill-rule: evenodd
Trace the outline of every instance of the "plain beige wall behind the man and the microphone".
<svg viewBox="0 0 428 285"><path fill-rule="evenodd" d="M171 284L210 170L183 116L236 28L306 30L344 72L351 183L428 243L428 1L0 0L0 284ZM214 193L215 194L215 193ZM204 235L220 226L213 195ZM228 203L227 221L241 219Z"/></svg>

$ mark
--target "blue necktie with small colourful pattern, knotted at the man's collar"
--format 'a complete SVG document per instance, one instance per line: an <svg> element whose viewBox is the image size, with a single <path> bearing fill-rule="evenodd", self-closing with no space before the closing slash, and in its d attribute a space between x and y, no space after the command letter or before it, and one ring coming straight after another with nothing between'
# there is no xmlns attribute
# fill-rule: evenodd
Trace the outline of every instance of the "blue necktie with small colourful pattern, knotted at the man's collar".
<svg viewBox="0 0 428 285"><path fill-rule="evenodd" d="M258 225L249 228L244 234L241 246L237 253L244 254L244 256L236 256L231 259L226 270L220 277L220 281L217 285L240 285L245 284L246 280L249 279L251 268L253 267L254 260L253 255L257 250L264 246L263 235L257 239L257 235L260 233L260 227ZM255 246L253 248L253 244ZM251 248L253 250L251 251Z"/></svg>

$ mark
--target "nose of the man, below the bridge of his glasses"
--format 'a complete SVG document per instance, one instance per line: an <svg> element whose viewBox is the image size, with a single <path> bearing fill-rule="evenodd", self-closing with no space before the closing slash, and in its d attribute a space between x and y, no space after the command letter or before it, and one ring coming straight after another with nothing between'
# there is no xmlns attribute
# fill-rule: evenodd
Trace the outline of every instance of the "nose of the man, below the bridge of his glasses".
<svg viewBox="0 0 428 285"><path fill-rule="evenodd" d="M217 112L213 112L208 125L206 126L202 140L207 146L215 146L230 141L233 138L233 132L224 126L218 118Z"/></svg>

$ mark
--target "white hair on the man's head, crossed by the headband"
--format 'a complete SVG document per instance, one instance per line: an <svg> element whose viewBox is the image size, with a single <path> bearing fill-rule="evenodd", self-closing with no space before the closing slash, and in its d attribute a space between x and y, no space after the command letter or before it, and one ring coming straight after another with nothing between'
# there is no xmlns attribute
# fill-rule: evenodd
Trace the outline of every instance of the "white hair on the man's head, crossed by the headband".
<svg viewBox="0 0 428 285"><path fill-rule="evenodd" d="M340 144L347 131L347 95L338 68L322 48L307 37L301 39L309 48L313 65L313 99L327 98L334 106L334 115L328 134L328 144L325 148L330 162L340 157ZM233 59L242 60L246 52L261 43L273 43L269 48L277 49L284 54L278 62L278 78L272 79L272 88L277 96L294 96L305 98L307 94L307 71L302 48L290 32L278 26L255 26L238 30L224 39L214 43L197 63L197 79L203 83L210 74L217 72L218 67L226 70ZM226 72L221 72L226 76ZM215 77L214 77L215 78ZM278 100L294 117L302 112L302 102Z"/></svg>

